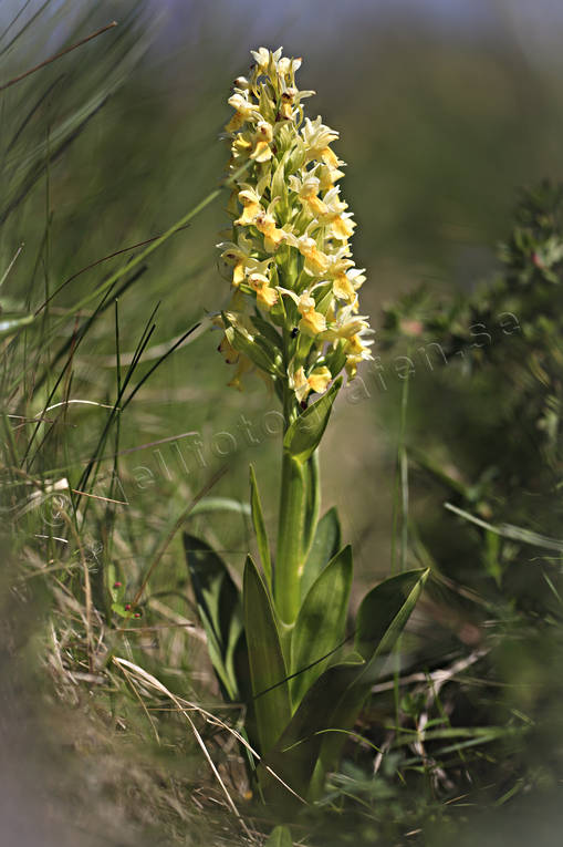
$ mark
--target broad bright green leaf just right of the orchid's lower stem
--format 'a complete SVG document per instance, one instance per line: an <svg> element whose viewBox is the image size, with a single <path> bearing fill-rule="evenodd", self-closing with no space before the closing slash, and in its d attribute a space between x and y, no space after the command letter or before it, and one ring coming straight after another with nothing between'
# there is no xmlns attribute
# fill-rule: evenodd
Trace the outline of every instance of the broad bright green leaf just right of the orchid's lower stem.
<svg viewBox="0 0 563 847"><path fill-rule="evenodd" d="M329 562L303 601L291 639L291 673L298 673L291 680L294 706L344 641L352 572L348 545Z"/></svg>

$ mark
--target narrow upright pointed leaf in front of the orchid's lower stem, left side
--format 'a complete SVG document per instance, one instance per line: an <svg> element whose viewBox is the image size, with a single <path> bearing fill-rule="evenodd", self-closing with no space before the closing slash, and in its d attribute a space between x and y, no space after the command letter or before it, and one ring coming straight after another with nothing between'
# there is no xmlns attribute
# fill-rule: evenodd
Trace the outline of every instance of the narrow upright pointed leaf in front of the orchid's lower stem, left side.
<svg viewBox="0 0 563 847"><path fill-rule="evenodd" d="M272 750L289 723L291 706L273 606L250 556L244 566L242 598L258 737L263 755Z"/></svg>

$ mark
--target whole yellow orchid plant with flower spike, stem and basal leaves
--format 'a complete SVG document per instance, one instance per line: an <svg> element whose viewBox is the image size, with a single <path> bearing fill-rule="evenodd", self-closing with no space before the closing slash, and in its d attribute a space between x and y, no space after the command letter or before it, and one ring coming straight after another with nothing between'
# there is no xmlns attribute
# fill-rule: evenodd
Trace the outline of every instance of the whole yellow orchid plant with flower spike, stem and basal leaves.
<svg viewBox="0 0 563 847"><path fill-rule="evenodd" d="M267 799L288 786L314 797L426 574L406 571L368 592L345 649L352 552L341 548L334 509L319 520L317 451L341 372L352 380L372 358L373 330L358 314L365 276L352 257L355 221L335 186L344 165L331 147L338 133L304 116L301 101L313 92L296 87L301 59L281 48L252 56L223 136L234 189L231 230L218 248L232 267L231 301L213 322L223 330L220 352L237 368L229 384L241 389L253 370L282 404L278 540L273 556L251 469L261 568L247 558L242 591L211 548L187 536L186 549L221 690L246 703L244 731L262 757L253 783ZM199 558L190 558L194 549Z"/></svg>

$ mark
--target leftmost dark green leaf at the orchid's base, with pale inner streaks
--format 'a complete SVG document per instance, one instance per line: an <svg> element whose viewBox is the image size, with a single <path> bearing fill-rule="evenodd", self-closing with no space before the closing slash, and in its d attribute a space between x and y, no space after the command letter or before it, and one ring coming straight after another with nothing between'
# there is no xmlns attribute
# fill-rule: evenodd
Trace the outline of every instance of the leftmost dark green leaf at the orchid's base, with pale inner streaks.
<svg viewBox="0 0 563 847"><path fill-rule="evenodd" d="M209 658L226 699L238 700L234 651L242 633L238 588L222 559L205 541L185 533L184 548Z"/></svg>

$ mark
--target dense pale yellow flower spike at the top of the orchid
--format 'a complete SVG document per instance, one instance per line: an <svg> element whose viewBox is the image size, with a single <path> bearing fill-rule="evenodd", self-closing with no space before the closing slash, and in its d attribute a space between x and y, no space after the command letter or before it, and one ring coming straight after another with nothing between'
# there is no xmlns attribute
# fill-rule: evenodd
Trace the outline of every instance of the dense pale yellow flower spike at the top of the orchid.
<svg viewBox="0 0 563 847"><path fill-rule="evenodd" d="M237 388L254 369L280 397L306 404L343 366L353 378L371 358L368 319L357 317L365 277L350 246L356 224L335 186L344 175L332 148L338 133L304 114L314 92L295 81L302 60L281 48L251 56L228 100L232 229L218 247L232 267L233 299L221 351L240 369Z"/></svg>

